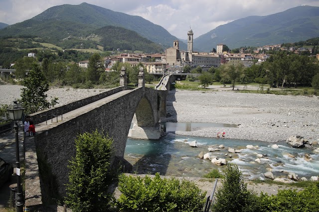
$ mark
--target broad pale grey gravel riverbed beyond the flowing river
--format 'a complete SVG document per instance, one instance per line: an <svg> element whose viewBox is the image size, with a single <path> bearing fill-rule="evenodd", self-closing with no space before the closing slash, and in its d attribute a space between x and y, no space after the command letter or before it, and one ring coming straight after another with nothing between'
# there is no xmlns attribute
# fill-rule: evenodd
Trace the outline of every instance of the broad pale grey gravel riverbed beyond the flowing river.
<svg viewBox="0 0 319 212"><path fill-rule="evenodd" d="M206 127L196 131L176 131L180 135L277 142L292 135L319 140L319 98L279 96L231 91L170 91L167 113L162 121L237 124L238 127Z"/></svg>

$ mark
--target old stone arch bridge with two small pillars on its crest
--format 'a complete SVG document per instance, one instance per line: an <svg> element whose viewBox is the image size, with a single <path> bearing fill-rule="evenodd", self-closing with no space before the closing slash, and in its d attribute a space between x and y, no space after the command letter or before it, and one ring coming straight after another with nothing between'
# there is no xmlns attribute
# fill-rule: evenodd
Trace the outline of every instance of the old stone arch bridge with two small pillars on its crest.
<svg viewBox="0 0 319 212"><path fill-rule="evenodd" d="M145 87L143 69L140 69L138 77L138 88L128 88L123 67L120 87L31 114L37 123L37 133L24 139L27 207L42 205L42 199L52 198L52 188L56 190L54 195L65 195L69 172L67 165L75 155L74 140L78 134L98 129L112 137L115 162L124 160L129 132L132 136L139 134L145 138L159 138L159 122L161 117L166 117L167 90L174 77L163 76L155 89ZM51 122L49 114L61 115ZM135 116L135 124L130 131Z"/></svg>

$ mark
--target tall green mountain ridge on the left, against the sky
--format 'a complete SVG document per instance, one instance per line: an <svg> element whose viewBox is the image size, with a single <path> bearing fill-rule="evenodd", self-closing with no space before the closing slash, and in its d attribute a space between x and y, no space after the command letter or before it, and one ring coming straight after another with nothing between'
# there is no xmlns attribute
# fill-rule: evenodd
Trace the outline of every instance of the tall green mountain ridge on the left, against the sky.
<svg viewBox="0 0 319 212"><path fill-rule="evenodd" d="M70 35L88 36L94 30L107 25L133 30L164 47L170 47L177 39L163 27L140 16L128 15L88 3L50 7L29 20L0 30L0 36L33 35L47 37L57 42ZM186 49L186 44L181 43L180 46Z"/></svg>

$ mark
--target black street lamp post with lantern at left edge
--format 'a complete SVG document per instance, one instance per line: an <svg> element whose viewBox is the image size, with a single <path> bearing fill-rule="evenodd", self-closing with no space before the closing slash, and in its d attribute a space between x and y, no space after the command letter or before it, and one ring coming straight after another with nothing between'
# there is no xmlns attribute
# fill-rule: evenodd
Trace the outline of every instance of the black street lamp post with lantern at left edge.
<svg viewBox="0 0 319 212"><path fill-rule="evenodd" d="M9 117L14 121L14 132L15 132L15 157L16 157L16 186L17 186L17 198L16 198L16 211L23 211L23 197L20 181L20 157L19 157L19 138L18 138L18 124L17 120L22 118L24 108L17 104L17 101L13 101L13 105L9 105L8 108Z"/></svg>

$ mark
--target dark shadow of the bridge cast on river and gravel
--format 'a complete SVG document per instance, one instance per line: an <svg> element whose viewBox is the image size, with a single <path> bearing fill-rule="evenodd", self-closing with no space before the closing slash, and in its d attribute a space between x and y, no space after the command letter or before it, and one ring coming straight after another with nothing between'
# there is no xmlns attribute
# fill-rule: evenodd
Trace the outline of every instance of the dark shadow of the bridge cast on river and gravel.
<svg viewBox="0 0 319 212"><path fill-rule="evenodd" d="M175 93L178 92L172 89L167 93L166 101L166 117L161 118L162 122L176 122L177 113L173 106L175 102ZM164 129L165 131L165 129ZM167 141L165 137L160 140L145 140L148 143L148 151L144 153L144 156L134 158L126 158L128 162L132 165L132 170L126 170L126 172L131 172L135 174L156 174L166 175L169 162L174 155L171 155L165 151L167 146ZM143 148L143 147L141 147Z"/></svg>

